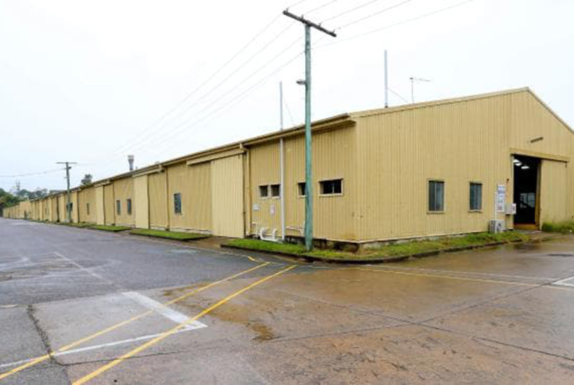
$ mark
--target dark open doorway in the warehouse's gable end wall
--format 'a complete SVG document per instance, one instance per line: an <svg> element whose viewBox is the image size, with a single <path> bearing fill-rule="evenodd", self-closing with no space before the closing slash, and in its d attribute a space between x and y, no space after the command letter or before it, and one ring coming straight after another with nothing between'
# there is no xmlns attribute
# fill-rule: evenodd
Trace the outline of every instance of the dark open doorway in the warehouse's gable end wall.
<svg viewBox="0 0 574 385"><path fill-rule="evenodd" d="M540 159L514 156L514 224L535 225L538 221L538 167Z"/></svg>

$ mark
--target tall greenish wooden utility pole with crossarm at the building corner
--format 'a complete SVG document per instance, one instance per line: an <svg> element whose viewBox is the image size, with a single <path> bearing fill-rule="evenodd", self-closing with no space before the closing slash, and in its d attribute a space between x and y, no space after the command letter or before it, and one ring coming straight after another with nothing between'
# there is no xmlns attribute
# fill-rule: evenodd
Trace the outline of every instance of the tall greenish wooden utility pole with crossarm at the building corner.
<svg viewBox="0 0 574 385"><path fill-rule="evenodd" d="M311 28L317 29L332 37L337 37L333 31L321 27L314 22L283 10L283 15L301 22L305 27L305 248L313 248L313 181L311 179Z"/></svg>

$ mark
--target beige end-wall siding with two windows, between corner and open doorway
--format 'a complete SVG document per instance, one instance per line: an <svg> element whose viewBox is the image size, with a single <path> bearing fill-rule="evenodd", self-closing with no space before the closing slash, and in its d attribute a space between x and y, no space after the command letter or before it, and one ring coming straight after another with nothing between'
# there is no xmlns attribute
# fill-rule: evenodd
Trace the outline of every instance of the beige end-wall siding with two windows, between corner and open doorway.
<svg viewBox="0 0 574 385"><path fill-rule="evenodd" d="M508 112L503 97L360 118L360 239L485 231L498 184L512 201ZM428 181L444 181L444 212L428 212ZM482 211L469 211L470 182Z"/></svg>

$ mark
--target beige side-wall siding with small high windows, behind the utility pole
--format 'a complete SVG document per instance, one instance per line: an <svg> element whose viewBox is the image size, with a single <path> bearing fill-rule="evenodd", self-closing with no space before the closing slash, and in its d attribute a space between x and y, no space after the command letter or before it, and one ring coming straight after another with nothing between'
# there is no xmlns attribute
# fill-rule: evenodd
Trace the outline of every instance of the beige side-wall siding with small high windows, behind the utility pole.
<svg viewBox="0 0 574 385"><path fill-rule="evenodd" d="M304 182L304 137L284 141L286 234L301 236L304 198L297 183ZM355 129L321 132L313 136L314 236L356 240L356 137ZM250 148L251 233L267 228L281 235L281 200L261 198L259 186L279 183L279 141ZM343 179L343 194L321 196L319 182Z"/></svg>

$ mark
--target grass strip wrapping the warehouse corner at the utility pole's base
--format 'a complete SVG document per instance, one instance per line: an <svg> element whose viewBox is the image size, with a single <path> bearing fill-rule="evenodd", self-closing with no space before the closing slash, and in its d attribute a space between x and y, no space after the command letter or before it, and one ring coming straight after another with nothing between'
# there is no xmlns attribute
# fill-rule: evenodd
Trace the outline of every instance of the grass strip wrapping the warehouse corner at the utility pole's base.
<svg viewBox="0 0 574 385"><path fill-rule="evenodd" d="M245 248L253 251L270 253L283 253L300 257L314 257L325 260L383 260L401 256L417 255L440 251L474 248L489 244L510 243L516 241L528 241L528 235L509 231L500 234L487 232L464 235L461 237L442 237L437 239L424 239L419 241L405 241L394 244L386 244L376 248L369 248L360 253L349 253L332 249L314 249L310 253L299 244L280 244L260 239L233 239L228 246Z"/></svg>

